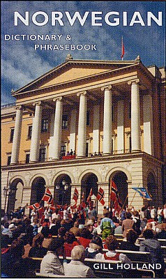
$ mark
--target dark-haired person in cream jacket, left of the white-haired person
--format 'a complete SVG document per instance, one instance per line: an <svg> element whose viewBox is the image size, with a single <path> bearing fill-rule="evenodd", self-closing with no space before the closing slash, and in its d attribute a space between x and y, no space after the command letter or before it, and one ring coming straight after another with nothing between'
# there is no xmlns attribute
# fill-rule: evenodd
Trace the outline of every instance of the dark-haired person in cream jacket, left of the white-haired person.
<svg viewBox="0 0 166 279"><path fill-rule="evenodd" d="M52 239L48 251L40 264L40 273L64 275L63 266L59 261L58 249L63 246L61 239Z"/></svg>

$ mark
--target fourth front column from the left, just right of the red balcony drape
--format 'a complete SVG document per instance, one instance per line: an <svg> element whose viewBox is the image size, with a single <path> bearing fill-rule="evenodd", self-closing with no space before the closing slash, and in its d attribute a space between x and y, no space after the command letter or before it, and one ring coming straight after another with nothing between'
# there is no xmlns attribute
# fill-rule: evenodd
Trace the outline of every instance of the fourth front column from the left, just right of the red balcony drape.
<svg viewBox="0 0 166 279"><path fill-rule="evenodd" d="M86 155L86 112L87 112L86 91L82 93L77 93L77 96L80 96L77 157L85 157Z"/></svg>

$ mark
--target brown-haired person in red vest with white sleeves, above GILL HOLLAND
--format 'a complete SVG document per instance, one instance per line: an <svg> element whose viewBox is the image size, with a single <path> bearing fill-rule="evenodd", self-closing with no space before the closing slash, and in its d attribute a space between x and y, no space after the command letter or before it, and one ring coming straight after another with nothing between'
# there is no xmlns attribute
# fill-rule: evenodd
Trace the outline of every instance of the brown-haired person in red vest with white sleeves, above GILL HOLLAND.
<svg viewBox="0 0 166 279"><path fill-rule="evenodd" d="M110 259L112 261L121 261L128 264L131 263L130 259L128 259L126 255L115 251L119 247L119 243L115 236L107 236L107 239L105 239L105 243L108 252L105 252L102 255L96 255L96 259Z"/></svg>

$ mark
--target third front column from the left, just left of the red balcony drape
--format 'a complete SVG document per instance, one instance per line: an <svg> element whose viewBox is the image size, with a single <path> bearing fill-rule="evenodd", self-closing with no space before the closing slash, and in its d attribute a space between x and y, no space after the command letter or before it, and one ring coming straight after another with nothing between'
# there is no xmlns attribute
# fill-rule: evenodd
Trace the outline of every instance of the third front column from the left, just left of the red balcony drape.
<svg viewBox="0 0 166 279"><path fill-rule="evenodd" d="M55 119L54 119L54 147L52 150L52 158L58 160L61 153L61 125L62 125L62 97L54 98L56 102Z"/></svg>

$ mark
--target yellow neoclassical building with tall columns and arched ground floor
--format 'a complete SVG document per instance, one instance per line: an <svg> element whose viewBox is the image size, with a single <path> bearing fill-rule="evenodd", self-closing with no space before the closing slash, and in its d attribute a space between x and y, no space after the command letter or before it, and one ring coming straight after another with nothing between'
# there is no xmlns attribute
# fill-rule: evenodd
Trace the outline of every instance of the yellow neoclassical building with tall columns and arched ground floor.
<svg viewBox="0 0 166 279"><path fill-rule="evenodd" d="M1 109L2 209L40 202L49 187L70 204L114 179L121 201L139 209L165 202L165 70L134 61L74 60L71 56L13 91ZM68 154L70 151L74 154ZM103 206L98 203L98 213Z"/></svg>

